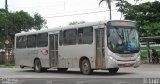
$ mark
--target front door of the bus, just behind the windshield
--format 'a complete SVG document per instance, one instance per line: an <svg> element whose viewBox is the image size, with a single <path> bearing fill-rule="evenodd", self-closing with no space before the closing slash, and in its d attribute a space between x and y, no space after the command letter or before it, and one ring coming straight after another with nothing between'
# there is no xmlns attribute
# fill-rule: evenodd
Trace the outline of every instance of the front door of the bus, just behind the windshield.
<svg viewBox="0 0 160 84"><path fill-rule="evenodd" d="M96 68L105 68L104 28L95 30L96 41Z"/></svg>

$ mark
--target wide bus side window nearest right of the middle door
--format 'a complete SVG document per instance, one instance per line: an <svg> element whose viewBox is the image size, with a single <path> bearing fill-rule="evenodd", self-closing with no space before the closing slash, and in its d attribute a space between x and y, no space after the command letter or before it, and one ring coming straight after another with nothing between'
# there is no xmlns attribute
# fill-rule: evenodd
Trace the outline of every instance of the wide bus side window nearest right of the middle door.
<svg viewBox="0 0 160 84"><path fill-rule="evenodd" d="M77 29L65 30L63 36L64 45L74 45L77 43Z"/></svg>

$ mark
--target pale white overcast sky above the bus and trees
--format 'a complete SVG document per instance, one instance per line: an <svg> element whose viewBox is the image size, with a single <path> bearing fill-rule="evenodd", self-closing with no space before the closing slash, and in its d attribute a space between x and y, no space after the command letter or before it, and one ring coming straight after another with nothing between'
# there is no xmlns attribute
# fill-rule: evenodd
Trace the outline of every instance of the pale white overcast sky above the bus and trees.
<svg viewBox="0 0 160 84"><path fill-rule="evenodd" d="M106 3L99 6L100 0L8 0L8 10L24 10L31 16L39 13L47 20L48 28L66 26L73 21L95 22L109 20ZM134 0L128 0L134 4ZM153 0L145 0L153 1ZM139 1L143 2L143 1ZM138 2L138 3L139 3ZM120 19L121 14L112 2L112 19ZM5 0L0 0L0 8L5 8Z"/></svg>

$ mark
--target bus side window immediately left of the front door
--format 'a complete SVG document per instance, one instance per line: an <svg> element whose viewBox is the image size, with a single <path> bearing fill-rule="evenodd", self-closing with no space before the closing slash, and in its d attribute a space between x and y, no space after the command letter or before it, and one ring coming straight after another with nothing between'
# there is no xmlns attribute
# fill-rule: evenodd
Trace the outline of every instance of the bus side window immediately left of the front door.
<svg viewBox="0 0 160 84"><path fill-rule="evenodd" d="M78 43L91 44L93 42L93 28L85 27L78 29Z"/></svg>

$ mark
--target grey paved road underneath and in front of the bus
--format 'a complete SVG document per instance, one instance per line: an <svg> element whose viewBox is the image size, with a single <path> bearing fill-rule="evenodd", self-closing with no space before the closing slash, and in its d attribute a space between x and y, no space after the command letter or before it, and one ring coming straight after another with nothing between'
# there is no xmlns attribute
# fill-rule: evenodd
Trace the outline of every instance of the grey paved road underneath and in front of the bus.
<svg viewBox="0 0 160 84"><path fill-rule="evenodd" d="M106 84L106 81L107 84L160 84L160 64L143 64L139 68L121 68L115 75L101 70L94 71L92 75L82 75L76 69L69 69L64 73L54 69L35 73L32 69L0 68L0 78L2 78L1 81L21 80L19 81L22 82L21 84Z"/></svg>

